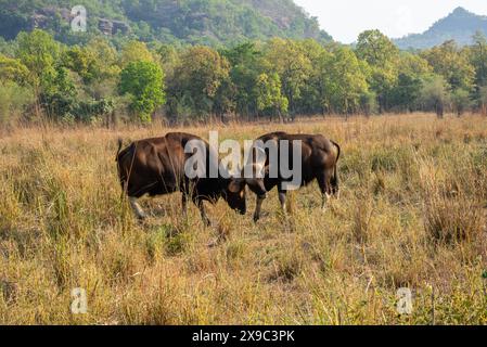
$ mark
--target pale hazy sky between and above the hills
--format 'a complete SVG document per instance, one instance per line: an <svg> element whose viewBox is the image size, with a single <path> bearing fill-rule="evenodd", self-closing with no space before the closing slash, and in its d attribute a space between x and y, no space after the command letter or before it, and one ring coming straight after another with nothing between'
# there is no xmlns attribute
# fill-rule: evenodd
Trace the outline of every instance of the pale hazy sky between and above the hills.
<svg viewBox="0 0 487 347"><path fill-rule="evenodd" d="M295 0L335 40L351 43L367 29L392 38L423 33L458 7L487 15L487 0Z"/></svg>

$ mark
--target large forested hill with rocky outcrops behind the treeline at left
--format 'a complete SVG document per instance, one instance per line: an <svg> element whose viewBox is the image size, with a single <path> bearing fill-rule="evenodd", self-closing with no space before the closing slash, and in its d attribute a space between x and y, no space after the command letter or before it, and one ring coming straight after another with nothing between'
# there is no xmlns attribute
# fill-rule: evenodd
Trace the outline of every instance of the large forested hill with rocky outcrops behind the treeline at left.
<svg viewBox="0 0 487 347"><path fill-rule="evenodd" d="M0 0L0 36L13 39L38 27L69 41L76 4L78 0ZM86 0L84 5L89 35L212 46L270 37L331 40L318 20L292 0Z"/></svg>

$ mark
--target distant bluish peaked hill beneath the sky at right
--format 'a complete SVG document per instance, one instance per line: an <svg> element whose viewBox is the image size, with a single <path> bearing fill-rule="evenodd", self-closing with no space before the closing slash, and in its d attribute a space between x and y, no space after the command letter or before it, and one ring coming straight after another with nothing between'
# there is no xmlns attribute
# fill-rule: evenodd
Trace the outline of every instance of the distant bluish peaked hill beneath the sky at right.
<svg viewBox="0 0 487 347"><path fill-rule="evenodd" d="M423 34L413 34L395 40L400 49L426 49L456 40L459 44L472 44L476 31L487 35L487 16L457 8L447 17L436 22Z"/></svg>

